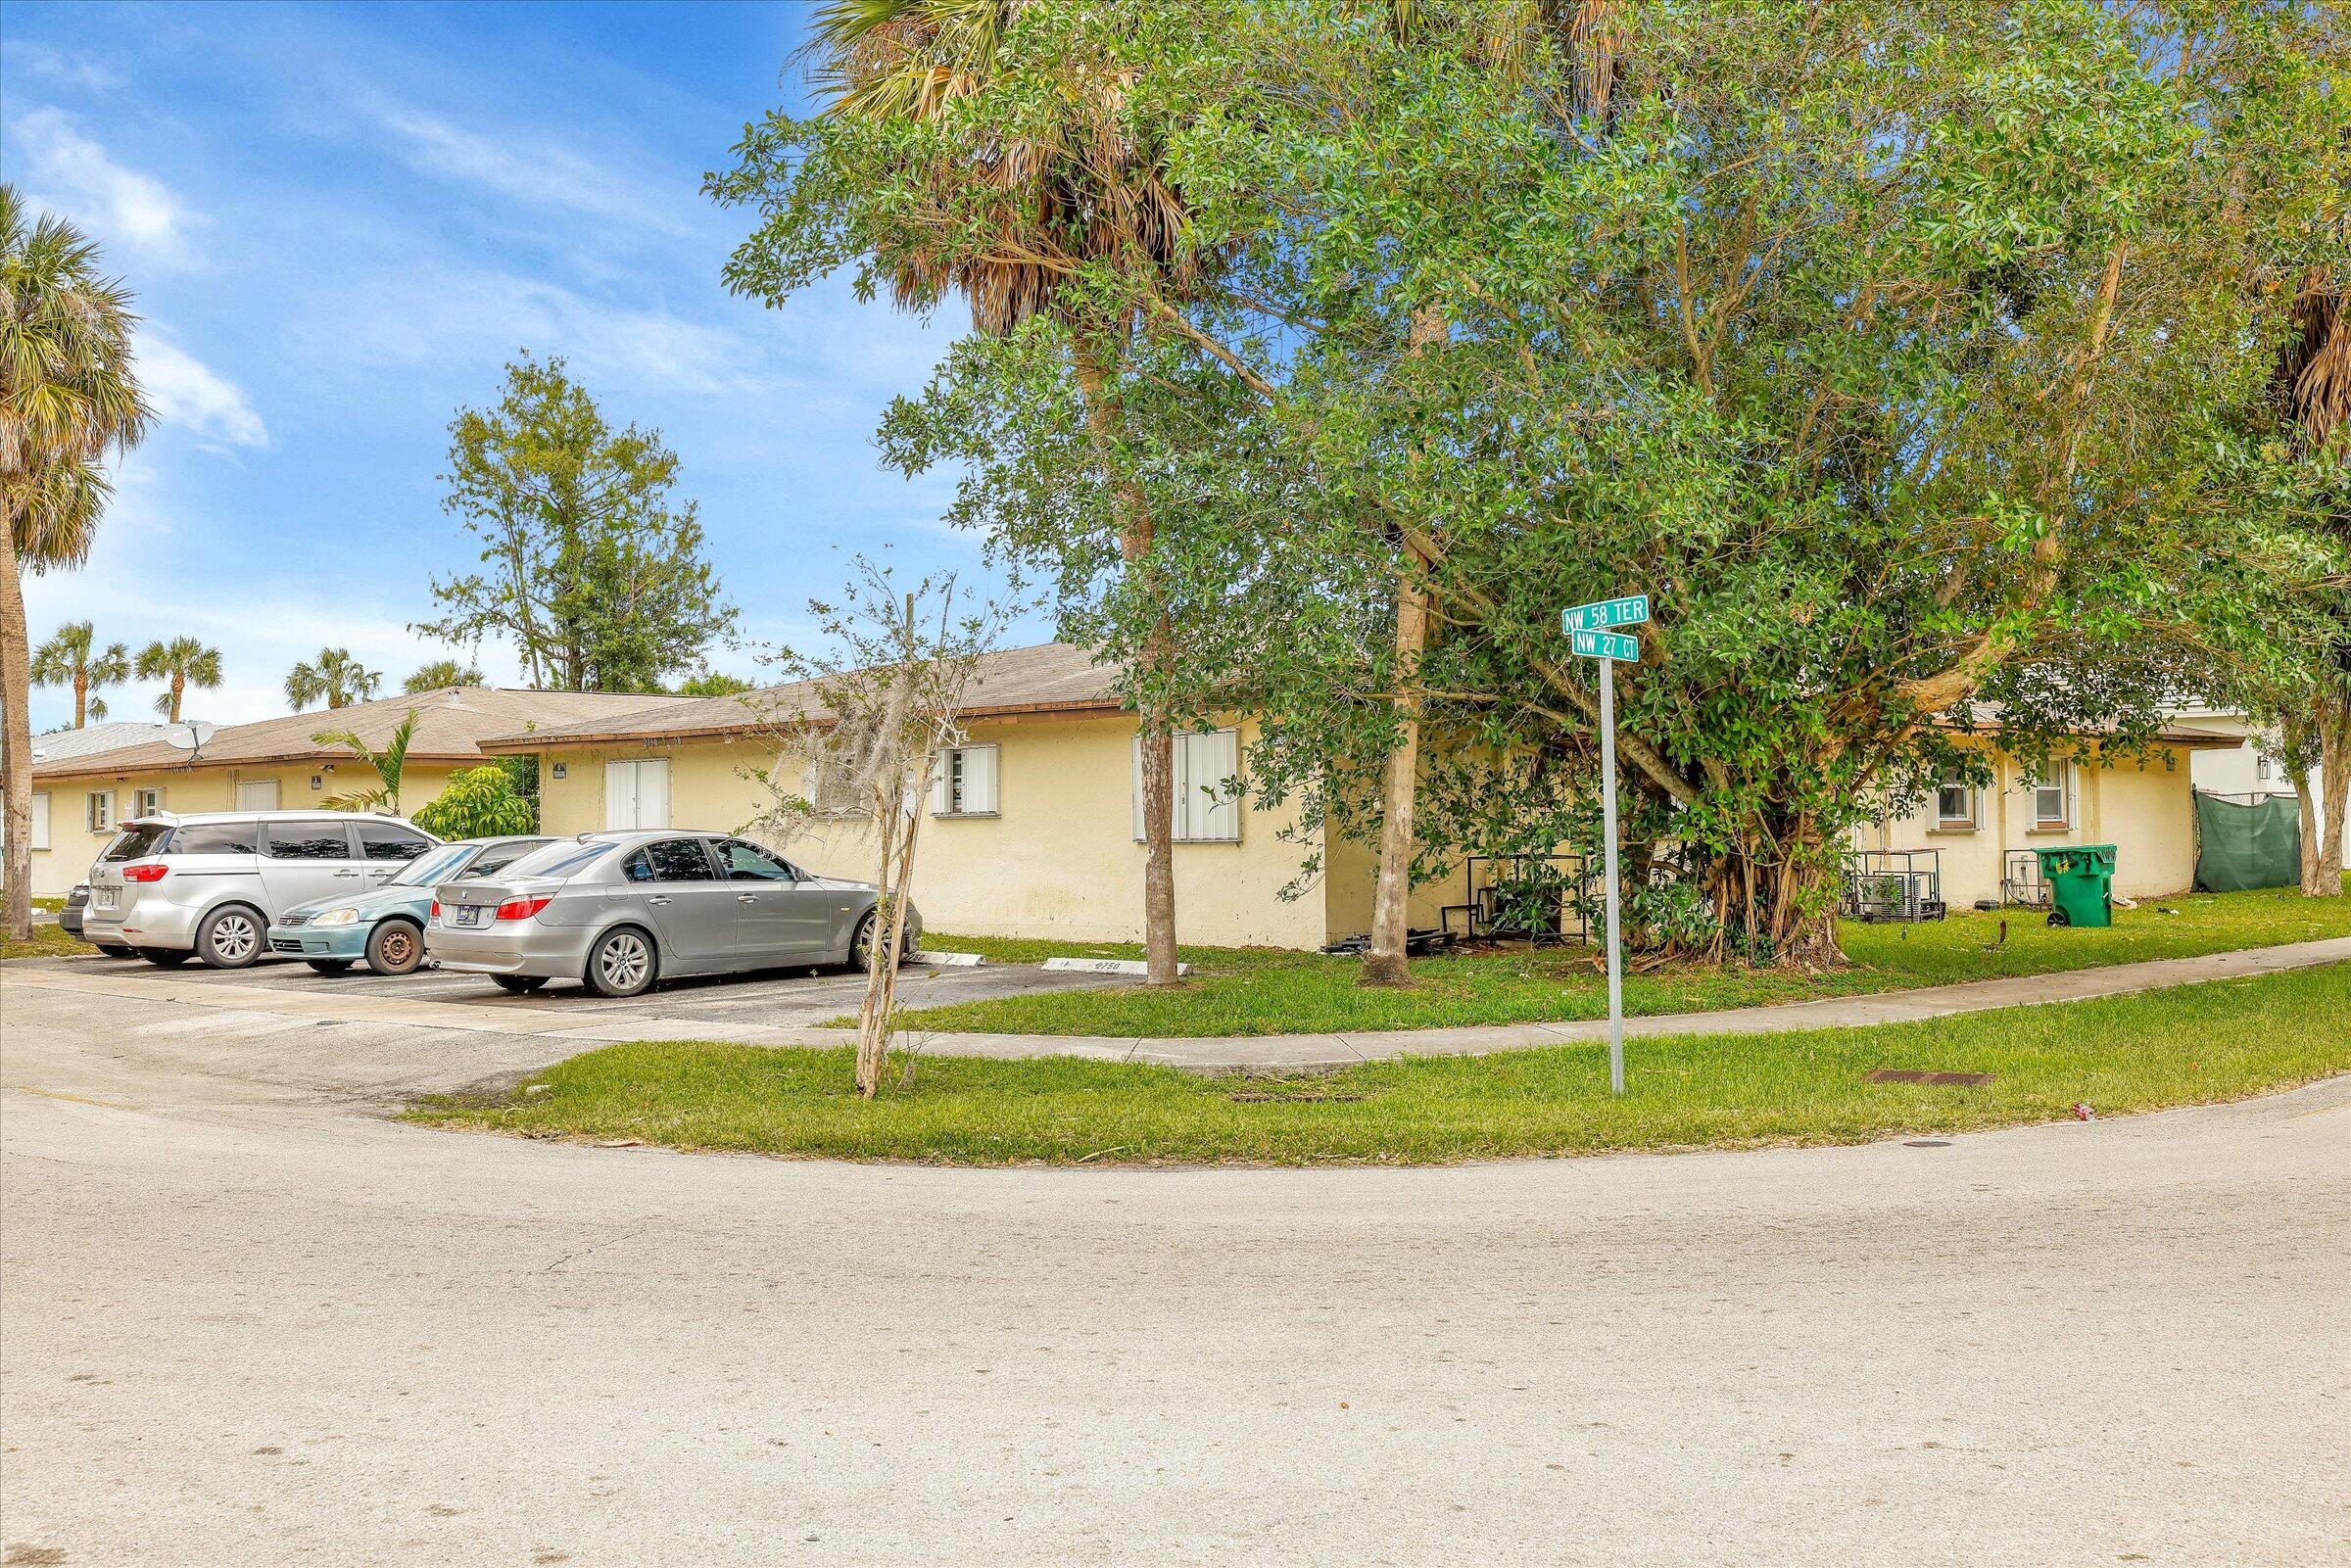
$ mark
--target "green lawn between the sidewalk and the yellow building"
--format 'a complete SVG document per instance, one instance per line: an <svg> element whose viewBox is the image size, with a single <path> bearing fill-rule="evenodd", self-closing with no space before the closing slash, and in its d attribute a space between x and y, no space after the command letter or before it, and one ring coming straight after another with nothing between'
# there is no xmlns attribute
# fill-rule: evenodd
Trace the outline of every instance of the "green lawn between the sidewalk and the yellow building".
<svg viewBox="0 0 2351 1568"><path fill-rule="evenodd" d="M2005 938L2001 929L2005 924ZM1923 926L1838 926L1850 969L1775 973L1669 966L1625 976L1627 1013L1693 1013L1850 997L1860 992L1987 980L2135 959L2175 959L2231 947L2269 947L2351 936L2351 898L2302 898L2292 889L2191 893L2116 910L2106 931L2064 931L2034 910L1954 914ZM985 952L1009 964L1053 954L1140 957L1117 943L1032 943L929 936L924 947ZM1140 985L964 1001L905 1013L917 1030L1004 1034L1326 1034L1422 1030L1474 1023L1535 1023L1608 1013L1606 976L1585 947L1509 947L1467 957L1415 959L1411 990L1364 990L1357 959L1262 947L1187 947L1192 983L1152 992Z"/></svg>

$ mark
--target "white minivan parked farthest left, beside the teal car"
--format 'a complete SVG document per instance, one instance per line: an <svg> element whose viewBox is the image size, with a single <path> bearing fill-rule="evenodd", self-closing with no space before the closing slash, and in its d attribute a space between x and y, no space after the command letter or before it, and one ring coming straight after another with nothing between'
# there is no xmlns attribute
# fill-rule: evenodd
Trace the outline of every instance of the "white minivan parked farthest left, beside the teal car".
<svg viewBox="0 0 2351 1568"><path fill-rule="evenodd" d="M395 816L348 811L141 816L89 867L82 940L165 969L190 957L245 969L268 950L277 910L367 893L435 844Z"/></svg>

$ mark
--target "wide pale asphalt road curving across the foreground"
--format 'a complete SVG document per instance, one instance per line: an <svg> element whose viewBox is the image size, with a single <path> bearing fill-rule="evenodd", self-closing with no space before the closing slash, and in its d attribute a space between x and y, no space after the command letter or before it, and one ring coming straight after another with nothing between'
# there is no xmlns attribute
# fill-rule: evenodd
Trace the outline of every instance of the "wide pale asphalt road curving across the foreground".
<svg viewBox="0 0 2351 1568"><path fill-rule="evenodd" d="M379 1114L564 1041L0 1020L9 1563L2351 1563L2351 1081L929 1171Z"/></svg>

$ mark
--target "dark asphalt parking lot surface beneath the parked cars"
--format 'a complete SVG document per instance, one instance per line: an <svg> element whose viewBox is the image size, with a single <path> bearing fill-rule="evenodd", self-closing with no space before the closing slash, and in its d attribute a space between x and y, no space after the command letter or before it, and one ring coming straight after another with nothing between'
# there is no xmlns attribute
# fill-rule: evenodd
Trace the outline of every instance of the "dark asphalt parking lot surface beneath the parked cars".
<svg viewBox="0 0 2351 1568"><path fill-rule="evenodd" d="M489 976L442 973L421 969L411 976L374 976L353 969L341 976L322 976L301 961L263 959L252 969L205 969L181 964L179 969L155 969L139 959L103 959L96 954L71 959L33 959L16 969L59 969L78 973L106 969L122 976L162 976L190 985L263 985L308 997L397 997L407 1001L480 1004L482 1009L562 1009L576 1011L581 1020L621 1023L628 1018L705 1020L712 1025L816 1025L858 1011L865 997L865 976L856 969L773 969L750 976L710 976L670 980L642 997L607 999L590 997L571 980L555 980L529 997L510 997ZM947 969L933 964L907 964L898 976L900 1006L947 1006L952 1001L987 1001L992 997L1016 997L1041 990L1077 990L1086 985L1121 985L1117 976L1049 973L1034 964L983 964L978 969Z"/></svg>

